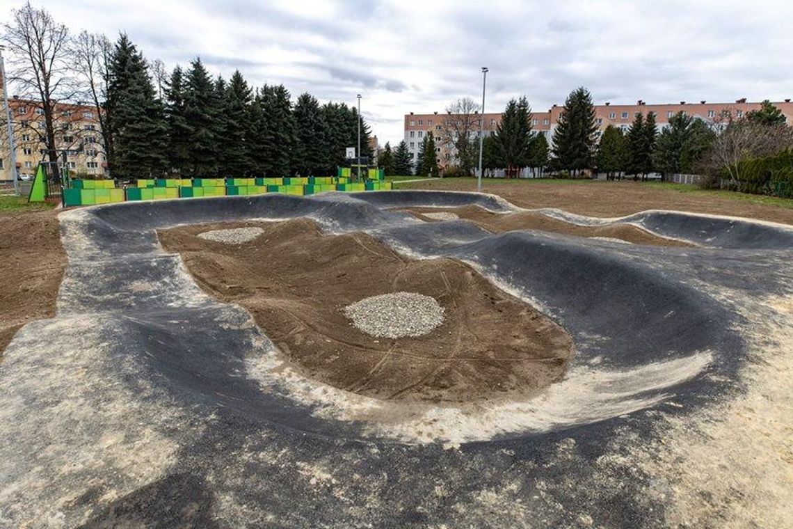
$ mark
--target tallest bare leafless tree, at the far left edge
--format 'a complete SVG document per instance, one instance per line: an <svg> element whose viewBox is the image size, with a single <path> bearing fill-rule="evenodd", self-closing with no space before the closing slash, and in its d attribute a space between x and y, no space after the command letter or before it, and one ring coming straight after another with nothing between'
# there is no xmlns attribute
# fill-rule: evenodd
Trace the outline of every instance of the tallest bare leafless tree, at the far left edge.
<svg viewBox="0 0 793 529"><path fill-rule="evenodd" d="M13 10L11 21L4 25L4 40L10 52L10 83L17 86L22 98L44 115L44 131L30 128L46 146L53 176L59 176L56 147L56 105L59 100L74 98L71 77L69 30L53 20L46 10L25 3Z"/></svg>

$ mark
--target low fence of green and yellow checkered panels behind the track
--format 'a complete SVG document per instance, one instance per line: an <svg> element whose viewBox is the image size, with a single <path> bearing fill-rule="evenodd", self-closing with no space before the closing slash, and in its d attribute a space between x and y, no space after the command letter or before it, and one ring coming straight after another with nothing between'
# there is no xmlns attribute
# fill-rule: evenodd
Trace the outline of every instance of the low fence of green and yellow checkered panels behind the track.
<svg viewBox="0 0 793 529"><path fill-rule="evenodd" d="M391 182L350 182L347 177L292 178L167 178L143 179L135 186L116 188L113 180L72 180L63 190L63 205L109 204L111 202L163 200L167 198L224 197L282 193L311 195L329 191L385 191Z"/></svg>

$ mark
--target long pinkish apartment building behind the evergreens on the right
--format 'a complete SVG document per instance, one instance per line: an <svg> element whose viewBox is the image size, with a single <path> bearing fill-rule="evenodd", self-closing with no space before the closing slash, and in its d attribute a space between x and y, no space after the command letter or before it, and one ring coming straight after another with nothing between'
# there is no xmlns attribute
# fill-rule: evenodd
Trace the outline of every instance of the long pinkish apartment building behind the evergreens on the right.
<svg viewBox="0 0 793 529"><path fill-rule="evenodd" d="M783 102L774 102L776 108L780 109L787 123L793 124L793 102L785 99ZM535 132L546 135L550 144L554 137L554 129L557 126L563 107L554 105L547 112L534 112L531 116L531 127ZM692 117L697 117L703 121L718 125L723 121L725 113L730 113L733 117L743 117L752 110L760 109L760 102L746 102L745 99L738 99L734 103L709 103L707 101L665 103L660 105L648 105L639 100L633 105L611 105L610 102L603 105L595 105L595 119L600 132L603 132L608 125L622 128L626 131L634 120L636 113L654 113L659 131L668 126L669 118L676 113L684 112ZM475 113L469 116L468 122L463 124L469 126L474 131L473 136L477 136L480 120L484 117L482 128L485 136L492 134L496 130L496 125L501 121L500 113ZM450 129L454 129L454 122L465 119L465 117L453 115L451 113L431 113L416 114L408 113L404 116L404 141L408 144L411 158L418 157L419 148L427 132L433 132L435 136L436 148L438 153L438 163L441 167L454 164L455 149L450 140ZM439 138L441 139L439 141Z"/></svg>

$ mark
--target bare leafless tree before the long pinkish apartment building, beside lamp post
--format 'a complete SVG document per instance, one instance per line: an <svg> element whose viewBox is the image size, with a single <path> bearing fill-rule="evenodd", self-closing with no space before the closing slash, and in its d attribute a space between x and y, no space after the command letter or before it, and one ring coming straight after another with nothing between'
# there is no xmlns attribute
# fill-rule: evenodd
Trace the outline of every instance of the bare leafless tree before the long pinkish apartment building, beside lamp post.
<svg viewBox="0 0 793 529"><path fill-rule="evenodd" d="M436 132L439 144L454 146L458 167L466 174L471 174L478 155L478 143L475 141L479 134L478 114L480 106L471 98L461 98L446 107L446 116L443 117L441 130ZM488 125L488 124L485 124Z"/></svg>

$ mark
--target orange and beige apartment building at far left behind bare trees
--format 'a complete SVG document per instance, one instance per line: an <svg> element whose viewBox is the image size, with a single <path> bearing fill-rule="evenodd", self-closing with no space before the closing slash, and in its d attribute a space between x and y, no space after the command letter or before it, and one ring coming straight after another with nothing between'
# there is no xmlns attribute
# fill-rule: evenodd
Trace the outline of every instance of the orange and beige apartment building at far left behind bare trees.
<svg viewBox="0 0 793 529"><path fill-rule="evenodd" d="M44 143L44 109L40 103L17 98L9 99L17 162L17 174L33 175L38 163L49 159ZM10 167L10 142L7 137L6 109L0 127L0 181L13 180ZM105 174L107 159L102 148L102 129L93 105L58 103L55 108L55 136L59 159L72 174Z"/></svg>

